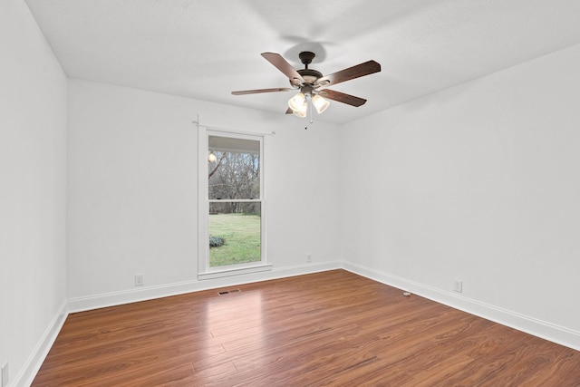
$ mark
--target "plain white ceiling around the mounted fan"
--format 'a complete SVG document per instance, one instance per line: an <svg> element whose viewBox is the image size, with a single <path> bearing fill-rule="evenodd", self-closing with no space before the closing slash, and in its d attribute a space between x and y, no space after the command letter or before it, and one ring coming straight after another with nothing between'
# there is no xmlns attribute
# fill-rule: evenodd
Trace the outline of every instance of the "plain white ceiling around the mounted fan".
<svg viewBox="0 0 580 387"><path fill-rule="evenodd" d="M580 43L579 0L25 0L74 78L284 114L294 92L260 53L323 74L375 60L381 73L332 87L346 122ZM298 120L292 115L288 120Z"/></svg>

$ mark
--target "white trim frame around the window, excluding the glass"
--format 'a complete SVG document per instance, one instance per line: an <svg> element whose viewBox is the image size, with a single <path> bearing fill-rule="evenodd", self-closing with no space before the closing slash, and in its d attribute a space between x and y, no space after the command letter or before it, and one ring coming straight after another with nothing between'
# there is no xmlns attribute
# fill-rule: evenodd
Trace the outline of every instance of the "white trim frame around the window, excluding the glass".
<svg viewBox="0 0 580 387"><path fill-rule="evenodd" d="M222 267L209 267L209 198L208 198L208 136L227 136L242 139L260 140L260 200L262 202L261 216L261 255L260 262ZM198 127L198 280L239 276L272 270L272 265L266 262L266 190L264 169L265 136L256 133L230 132L208 130ZM248 200L244 200L248 201Z"/></svg>

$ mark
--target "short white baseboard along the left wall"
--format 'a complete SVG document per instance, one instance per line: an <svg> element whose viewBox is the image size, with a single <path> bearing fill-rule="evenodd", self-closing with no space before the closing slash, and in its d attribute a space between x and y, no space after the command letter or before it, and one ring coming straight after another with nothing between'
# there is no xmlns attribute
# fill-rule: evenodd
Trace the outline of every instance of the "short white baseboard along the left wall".
<svg viewBox="0 0 580 387"><path fill-rule="evenodd" d="M63 305L61 305L58 312L54 315L51 324L49 324L46 331L44 331L43 336L40 338L38 343L36 343L34 351L31 353L26 363L24 363L24 367L21 368L20 372L18 372L9 385L29 386L32 384L36 373L40 370L41 365L43 365L46 355L51 350L54 340L56 340L56 336L61 332L67 315L66 301L64 301Z"/></svg>

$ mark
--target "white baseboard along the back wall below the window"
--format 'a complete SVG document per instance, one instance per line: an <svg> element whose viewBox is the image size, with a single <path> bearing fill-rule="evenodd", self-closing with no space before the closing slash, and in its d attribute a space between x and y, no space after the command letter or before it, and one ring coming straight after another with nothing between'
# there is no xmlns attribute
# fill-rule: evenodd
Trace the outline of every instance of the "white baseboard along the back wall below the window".
<svg viewBox="0 0 580 387"><path fill-rule="evenodd" d="M147 301L170 295L182 295L185 293L198 292L201 290L216 289L220 287L249 284L258 281L284 278L288 276L301 276L304 274L317 273L326 270L341 268L339 261L328 261L299 266L285 266L260 273L251 273L240 276L227 276L221 278L204 279L202 281L185 281L175 284L159 286L140 286L131 290L112 292L102 295L70 298L68 300L68 312L82 312L113 305L130 304L139 301Z"/></svg>

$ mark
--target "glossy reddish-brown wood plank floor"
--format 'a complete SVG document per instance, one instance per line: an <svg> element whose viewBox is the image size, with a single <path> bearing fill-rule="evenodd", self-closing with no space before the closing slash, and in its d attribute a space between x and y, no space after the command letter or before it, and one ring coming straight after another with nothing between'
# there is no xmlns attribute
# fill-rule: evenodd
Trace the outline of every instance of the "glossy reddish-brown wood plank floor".
<svg viewBox="0 0 580 387"><path fill-rule="evenodd" d="M333 270L70 314L33 385L580 386L580 352Z"/></svg>

